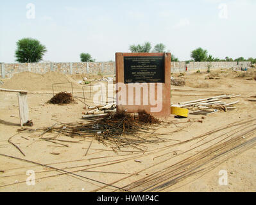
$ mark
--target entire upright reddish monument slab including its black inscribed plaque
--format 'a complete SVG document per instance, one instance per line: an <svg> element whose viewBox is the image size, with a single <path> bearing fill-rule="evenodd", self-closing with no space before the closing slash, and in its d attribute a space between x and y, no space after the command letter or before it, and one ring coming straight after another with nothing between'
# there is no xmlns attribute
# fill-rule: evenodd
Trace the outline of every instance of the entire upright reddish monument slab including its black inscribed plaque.
<svg viewBox="0 0 256 205"><path fill-rule="evenodd" d="M117 113L171 115L171 53L115 53Z"/></svg>

